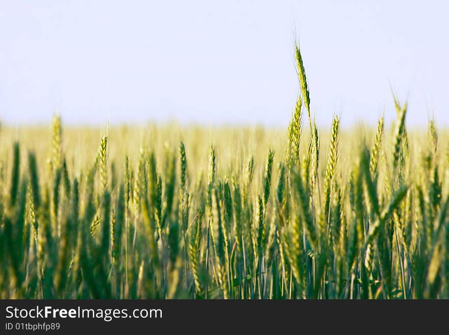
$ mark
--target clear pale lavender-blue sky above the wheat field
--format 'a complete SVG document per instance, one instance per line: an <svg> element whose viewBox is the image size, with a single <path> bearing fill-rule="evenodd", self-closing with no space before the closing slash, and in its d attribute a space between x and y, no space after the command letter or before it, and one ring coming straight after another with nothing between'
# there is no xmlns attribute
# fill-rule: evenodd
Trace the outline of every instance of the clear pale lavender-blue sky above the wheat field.
<svg viewBox="0 0 449 335"><path fill-rule="evenodd" d="M443 1L0 0L0 120L285 125L300 38L321 126L449 125Z"/></svg>

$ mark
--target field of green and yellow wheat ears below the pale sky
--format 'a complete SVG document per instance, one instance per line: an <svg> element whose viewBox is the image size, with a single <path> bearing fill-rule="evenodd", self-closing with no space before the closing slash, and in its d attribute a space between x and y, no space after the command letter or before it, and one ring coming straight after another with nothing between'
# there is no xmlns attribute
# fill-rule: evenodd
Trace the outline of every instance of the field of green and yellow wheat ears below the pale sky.
<svg viewBox="0 0 449 335"><path fill-rule="evenodd" d="M0 298L449 298L449 146L319 128L0 128Z"/></svg>

